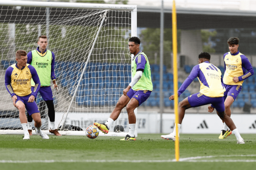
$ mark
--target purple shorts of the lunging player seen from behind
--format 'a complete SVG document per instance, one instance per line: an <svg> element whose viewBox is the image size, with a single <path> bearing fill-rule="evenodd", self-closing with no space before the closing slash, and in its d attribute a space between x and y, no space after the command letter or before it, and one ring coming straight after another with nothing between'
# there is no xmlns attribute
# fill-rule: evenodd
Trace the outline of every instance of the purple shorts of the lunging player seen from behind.
<svg viewBox="0 0 256 170"><path fill-rule="evenodd" d="M211 98L211 97L205 96L202 93L195 93L195 94L192 94L191 96L189 96L188 100L189 100L189 104L191 107L198 107L198 106L212 104L218 112L225 111L223 97Z"/></svg>

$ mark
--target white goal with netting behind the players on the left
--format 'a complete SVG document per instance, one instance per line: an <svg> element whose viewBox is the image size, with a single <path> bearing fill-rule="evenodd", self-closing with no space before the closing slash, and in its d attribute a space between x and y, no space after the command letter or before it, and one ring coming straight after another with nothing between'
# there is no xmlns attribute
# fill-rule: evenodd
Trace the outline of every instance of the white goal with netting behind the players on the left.
<svg viewBox="0 0 256 170"><path fill-rule="evenodd" d="M0 2L0 133L22 129L19 112L5 88L5 70L16 63L17 50L36 49L40 35L47 35L47 49L55 54L59 86L59 94L52 89L56 128L63 125L62 134L85 134L79 131L94 122L105 123L131 81L128 38L137 36L137 19L132 20L136 6L37 2L38 7L31 7L31 2L6 3ZM42 128L48 130L48 109L40 94L36 103ZM129 129L126 109L110 132L120 129Z"/></svg>

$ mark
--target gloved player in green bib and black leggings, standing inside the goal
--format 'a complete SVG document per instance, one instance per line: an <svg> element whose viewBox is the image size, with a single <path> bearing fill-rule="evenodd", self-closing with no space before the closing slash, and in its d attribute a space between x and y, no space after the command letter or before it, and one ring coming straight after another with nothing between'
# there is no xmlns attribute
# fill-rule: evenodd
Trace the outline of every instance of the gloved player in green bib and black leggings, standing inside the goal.
<svg viewBox="0 0 256 170"><path fill-rule="evenodd" d="M54 102L53 102L53 94L52 89L50 87L50 80L54 84L54 89L59 92L58 86L56 84L56 77L54 73L54 62L55 55L50 50L47 50L47 36L41 35L38 38L38 47L28 52L28 64L31 64L35 67L38 72L38 76L41 82L41 88L39 92L45 101L48 108L48 117L50 119L50 133L55 134L56 136L61 136L57 129L55 128L55 110L54 110ZM31 81L33 91L35 88L35 82ZM37 97L37 94L36 96ZM32 135L32 117L28 115L28 131L29 135Z"/></svg>

